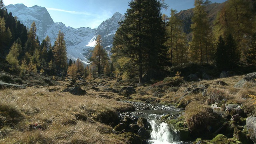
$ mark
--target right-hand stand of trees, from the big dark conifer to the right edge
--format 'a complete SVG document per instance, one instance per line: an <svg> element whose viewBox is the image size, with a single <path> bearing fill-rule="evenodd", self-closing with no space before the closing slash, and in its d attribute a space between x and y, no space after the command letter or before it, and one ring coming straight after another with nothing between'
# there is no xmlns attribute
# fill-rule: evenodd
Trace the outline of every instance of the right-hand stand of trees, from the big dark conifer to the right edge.
<svg viewBox="0 0 256 144"><path fill-rule="evenodd" d="M192 38L177 11L161 13L161 0L132 0L113 42L112 62L122 79L138 81L162 75L166 66L212 64L218 71L252 65L256 60L256 2L228 0L210 25L206 6L194 0Z"/></svg>

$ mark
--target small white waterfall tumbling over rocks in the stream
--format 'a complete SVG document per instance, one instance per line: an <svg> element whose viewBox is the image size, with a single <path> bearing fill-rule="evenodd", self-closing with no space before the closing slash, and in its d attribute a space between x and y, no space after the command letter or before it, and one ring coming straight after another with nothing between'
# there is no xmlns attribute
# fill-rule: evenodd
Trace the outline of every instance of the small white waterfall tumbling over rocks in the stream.
<svg viewBox="0 0 256 144"><path fill-rule="evenodd" d="M180 141L180 134L175 128L159 120L150 120L152 128L150 144L172 144Z"/></svg>

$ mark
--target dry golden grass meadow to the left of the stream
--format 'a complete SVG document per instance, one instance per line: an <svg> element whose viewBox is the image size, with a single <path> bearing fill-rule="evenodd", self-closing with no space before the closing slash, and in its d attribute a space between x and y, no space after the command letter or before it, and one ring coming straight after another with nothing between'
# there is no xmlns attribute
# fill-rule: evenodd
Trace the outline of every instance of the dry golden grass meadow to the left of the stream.
<svg viewBox="0 0 256 144"><path fill-rule="evenodd" d="M117 111L132 109L131 105L99 97L94 91L88 91L86 96L74 96L58 91L49 92L50 89L54 88L0 90L0 121L8 121L0 127L0 143L125 143L123 138L112 134L110 125L116 119L104 117L104 114L117 117ZM8 117L12 112L16 116Z"/></svg>

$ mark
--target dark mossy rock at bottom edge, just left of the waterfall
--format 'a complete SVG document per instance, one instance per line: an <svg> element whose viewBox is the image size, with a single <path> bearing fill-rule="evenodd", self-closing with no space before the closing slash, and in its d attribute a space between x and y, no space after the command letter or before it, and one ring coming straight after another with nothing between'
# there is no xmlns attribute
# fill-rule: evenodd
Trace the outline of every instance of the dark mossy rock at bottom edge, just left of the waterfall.
<svg viewBox="0 0 256 144"><path fill-rule="evenodd" d="M127 142L127 144L141 144L142 143L141 137L132 132L124 132L122 134L119 134L118 136L124 138L125 141Z"/></svg>

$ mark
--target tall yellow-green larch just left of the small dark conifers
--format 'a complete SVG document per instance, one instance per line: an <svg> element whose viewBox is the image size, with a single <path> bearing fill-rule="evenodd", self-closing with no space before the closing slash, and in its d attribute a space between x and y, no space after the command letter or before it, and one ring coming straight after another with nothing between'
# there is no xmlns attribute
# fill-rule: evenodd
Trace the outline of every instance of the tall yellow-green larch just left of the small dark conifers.
<svg viewBox="0 0 256 144"><path fill-rule="evenodd" d="M208 64L209 53L212 51L212 32L205 10L203 0L195 0L194 15L192 16L192 41L190 42L190 54L193 60L201 65Z"/></svg>

